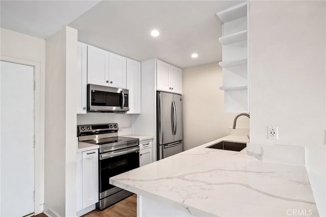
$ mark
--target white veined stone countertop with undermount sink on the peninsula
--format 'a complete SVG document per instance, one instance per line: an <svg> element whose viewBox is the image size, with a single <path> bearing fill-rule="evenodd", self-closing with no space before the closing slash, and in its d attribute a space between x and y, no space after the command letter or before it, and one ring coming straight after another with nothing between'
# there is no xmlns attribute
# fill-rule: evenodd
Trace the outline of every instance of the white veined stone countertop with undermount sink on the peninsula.
<svg viewBox="0 0 326 217"><path fill-rule="evenodd" d="M318 216L305 167L252 160L246 149L205 148L228 135L110 178L110 183L193 216ZM294 211L293 211L294 210Z"/></svg>

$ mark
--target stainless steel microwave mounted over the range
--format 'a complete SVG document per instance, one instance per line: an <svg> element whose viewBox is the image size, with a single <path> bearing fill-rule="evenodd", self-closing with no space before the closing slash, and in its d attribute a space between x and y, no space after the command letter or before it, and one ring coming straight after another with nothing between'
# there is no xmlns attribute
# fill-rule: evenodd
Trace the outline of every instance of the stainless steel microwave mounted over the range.
<svg viewBox="0 0 326 217"><path fill-rule="evenodd" d="M127 112L129 111L129 91L99 85L87 85L88 112Z"/></svg>

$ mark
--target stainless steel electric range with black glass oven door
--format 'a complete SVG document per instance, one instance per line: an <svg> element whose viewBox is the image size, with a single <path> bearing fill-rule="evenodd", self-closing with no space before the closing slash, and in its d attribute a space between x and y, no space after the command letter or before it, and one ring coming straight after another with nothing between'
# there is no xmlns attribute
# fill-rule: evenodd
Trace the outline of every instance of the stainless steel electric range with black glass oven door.
<svg viewBox="0 0 326 217"><path fill-rule="evenodd" d="M110 177L139 167L139 139L119 137L118 124L78 125L79 142L99 145L99 202L103 210L133 193L109 183Z"/></svg>

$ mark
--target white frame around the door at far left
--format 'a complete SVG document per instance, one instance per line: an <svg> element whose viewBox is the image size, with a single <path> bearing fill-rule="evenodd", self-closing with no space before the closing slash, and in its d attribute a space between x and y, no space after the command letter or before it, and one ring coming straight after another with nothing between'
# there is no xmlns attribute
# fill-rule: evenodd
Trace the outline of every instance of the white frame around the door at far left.
<svg viewBox="0 0 326 217"><path fill-rule="evenodd" d="M43 211L44 203L44 91L41 94L41 64L39 62L13 58L3 55L0 55L0 61L6 61L34 67L34 213L38 214Z"/></svg>

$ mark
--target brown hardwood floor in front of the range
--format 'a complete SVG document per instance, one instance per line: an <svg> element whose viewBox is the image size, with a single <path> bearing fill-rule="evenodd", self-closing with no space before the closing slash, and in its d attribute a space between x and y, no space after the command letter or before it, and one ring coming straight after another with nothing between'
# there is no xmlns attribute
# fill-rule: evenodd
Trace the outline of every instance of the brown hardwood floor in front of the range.
<svg viewBox="0 0 326 217"><path fill-rule="evenodd" d="M37 217L47 217L44 213L35 215ZM119 201L118 203L99 211L93 210L83 215L83 217L137 217L137 195Z"/></svg>

